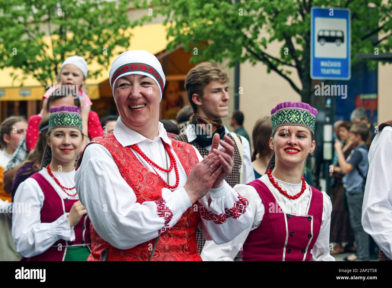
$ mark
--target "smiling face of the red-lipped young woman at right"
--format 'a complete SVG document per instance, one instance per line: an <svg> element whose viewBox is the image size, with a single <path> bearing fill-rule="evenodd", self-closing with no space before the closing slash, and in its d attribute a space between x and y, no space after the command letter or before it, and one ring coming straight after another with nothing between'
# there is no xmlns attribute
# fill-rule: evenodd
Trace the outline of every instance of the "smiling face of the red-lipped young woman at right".
<svg viewBox="0 0 392 288"><path fill-rule="evenodd" d="M301 126L282 126L270 138L270 148L275 151L276 162L295 165L305 162L309 151L313 151L316 142L312 132Z"/></svg>

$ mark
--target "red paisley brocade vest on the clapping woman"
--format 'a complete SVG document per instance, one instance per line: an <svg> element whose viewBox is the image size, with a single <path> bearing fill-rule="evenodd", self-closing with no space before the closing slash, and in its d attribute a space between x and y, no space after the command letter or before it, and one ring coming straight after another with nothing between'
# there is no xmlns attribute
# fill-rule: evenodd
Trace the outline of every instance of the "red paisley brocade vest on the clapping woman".
<svg viewBox="0 0 392 288"><path fill-rule="evenodd" d="M171 139L172 147L187 175L199 163L195 150L191 145ZM158 231L160 235L152 261L201 261L196 246L196 228L200 223L200 213L194 212L193 206L188 208L178 222L169 228L172 212L162 198L163 181L150 172L134 155L130 147L123 147L114 137L113 132L93 142L103 145L113 156L120 174L136 195L136 202L155 201L160 217L167 221ZM87 147L87 146L86 146ZM82 162L79 159L78 167ZM179 167L181 169L181 167ZM103 193L105 193L103 191ZM169 217L170 216L170 217ZM99 221L99 220L97 220ZM91 224L91 255L87 261L100 261L104 250L107 250L106 261L149 261L156 238L135 247L121 250L103 240Z"/></svg>

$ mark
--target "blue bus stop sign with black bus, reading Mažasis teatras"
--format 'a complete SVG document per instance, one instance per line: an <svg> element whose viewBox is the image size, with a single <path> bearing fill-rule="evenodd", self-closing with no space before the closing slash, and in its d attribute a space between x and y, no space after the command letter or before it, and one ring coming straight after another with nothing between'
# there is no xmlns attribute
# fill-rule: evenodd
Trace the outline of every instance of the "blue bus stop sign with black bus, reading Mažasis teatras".
<svg viewBox="0 0 392 288"><path fill-rule="evenodd" d="M350 79L350 26L349 9L312 7L310 78Z"/></svg>

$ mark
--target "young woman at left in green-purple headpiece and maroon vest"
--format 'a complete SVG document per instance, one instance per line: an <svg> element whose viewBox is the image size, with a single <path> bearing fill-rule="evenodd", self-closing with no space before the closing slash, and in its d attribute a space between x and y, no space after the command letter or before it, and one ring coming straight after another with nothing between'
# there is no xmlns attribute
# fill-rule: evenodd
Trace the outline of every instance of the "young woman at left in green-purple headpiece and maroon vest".
<svg viewBox="0 0 392 288"><path fill-rule="evenodd" d="M14 201L12 236L24 261L86 261L90 221L75 190L75 159L83 138L76 106L50 110L42 170L22 182ZM49 156L49 157L48 157Z"/></svg>

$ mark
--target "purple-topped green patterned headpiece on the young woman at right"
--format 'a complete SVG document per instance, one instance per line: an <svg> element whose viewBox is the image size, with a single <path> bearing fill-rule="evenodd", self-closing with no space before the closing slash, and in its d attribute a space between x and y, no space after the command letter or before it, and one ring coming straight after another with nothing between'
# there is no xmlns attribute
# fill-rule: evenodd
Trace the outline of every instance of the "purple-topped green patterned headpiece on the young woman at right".
<svg viewBox="0 0 392 288"><path fill-rule="evenodd" d="M317 109L303 102L281 102L271 110L272 133L281 126L303 126L314 134Z"/></svg>

